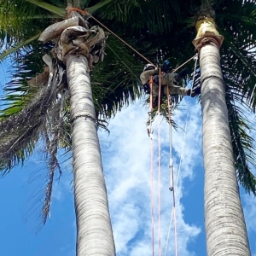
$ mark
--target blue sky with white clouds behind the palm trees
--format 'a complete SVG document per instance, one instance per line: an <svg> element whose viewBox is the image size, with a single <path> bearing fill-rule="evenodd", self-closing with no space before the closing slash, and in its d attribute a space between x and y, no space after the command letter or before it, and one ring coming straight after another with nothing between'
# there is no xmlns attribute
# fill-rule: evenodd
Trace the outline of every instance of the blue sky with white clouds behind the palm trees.
<svg viewBox="0 0 256 256"><path fill-rule="evenodd" d="M2 64L1 86L8 75ZM2 93L2 91L0 91ZM201 108L195 99L185 99L174 119L183 129L188 128L183 148L183 161L177 186L178 253L183 256L205 256L206 242L203 212L203 168L201 152ZM150 139L145 122L148 109L137 102L118 113L111 120L111 134L100 131L102 161L108 188L109 209L117 255L150 255ZM157 119L156 119L157 121ZM156 121L154 137L157 137ZM168 126L161 123L161 244L162 255L172 211L172 193L169 191L169 141ZM177 182L179 158L182 153L184 132L173 131L174 171ZM157 204L157 141L154 140L155 197ZM27 160L25 166L15 167L0 179L0 255L1 256L72 256L75 255L75 216L73 206L71 166L62 165L63 175L55 182L50 218L38 230L39 214L46 170L42 151ZM246 214L247 228L253 256L256 255L256 204L252 196L241 200ZM157 209L155 208L155 217ZM173 224L172 224L173 227ZM166 255L174 255L173 229L170 233ZM155 218L155 236L158 236ZM157 248L157 241L155 241Z"/></svg>

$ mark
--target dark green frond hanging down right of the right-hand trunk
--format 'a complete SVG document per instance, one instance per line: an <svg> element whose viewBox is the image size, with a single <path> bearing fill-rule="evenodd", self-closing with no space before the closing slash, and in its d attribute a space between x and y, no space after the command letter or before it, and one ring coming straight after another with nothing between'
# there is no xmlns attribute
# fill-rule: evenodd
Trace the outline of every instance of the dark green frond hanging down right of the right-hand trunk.
<svg viewBox="0 0 256 256"><path fill-rule="evenodd" d="M226 88L226 102L230 120L230 134L236 166L237 180L247 193L256 195L256 151L251 132L254 125L247 119L246 113L252 113L251 104L245 97L241 79L230 74L230 69L223 65L223 74ZM195 86L200 84L200 70L195 75ZM253 169L253 170L252 170Z"/></svg>

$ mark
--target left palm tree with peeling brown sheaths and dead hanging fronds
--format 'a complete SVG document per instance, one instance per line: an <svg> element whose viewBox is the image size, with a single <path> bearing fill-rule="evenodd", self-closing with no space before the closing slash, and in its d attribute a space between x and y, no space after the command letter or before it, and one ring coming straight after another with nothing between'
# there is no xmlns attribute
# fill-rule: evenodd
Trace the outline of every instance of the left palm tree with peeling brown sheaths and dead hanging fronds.
<svg viewBox="0 0 256 256"><path fill-rule="evenodd" d="M52 30L53 26L51 26L39 38L45 43L49 39L61 35L61 39L56 40L59 45L55 48L55 55L44 55L44 62L49 67L45 68L44 72L36 79L29 81L32 86L39 87L41 85L42 87L43 85L42 88L39 88L37 96L25 108L20 106L20 109L15 111L15 106L12 105L3 111L2 131L7 132L8 129L11 129L12 135L5 137L4 141L2 140L4 147L1 150L1 167L10 169L20 154L23 154L24 151L30 153L33 148L33 145L30 146L31 142L38 140L38 130L43 126L50 154L49 184L46 189L43 209L45 223L49 212L50 186L52 186L54 169L55 166L59 166L55 155L58 143L56 138L61 136L61 131L63 131L61 125L65 125L64 116L61 113L61 108L63 108L61 101L59 99L57 102L55 101L61 90L67 90L66 76L63 72L63 68L65 68L63 66L66 66L70 93L70 110L68 112L72 124L73 183L78 230L77 254L114 255L115 248L108 212L107 189L102 172L102 160L97 137L99 121L92 98L89 74L91 65L99 59L103 59L106 35L99 27L89 28L87 22L79 14L70 12L69 15L72 15L70 19L56 23L55 30ZM69 29L70 26L72 26L71 29ZM70 41L70 38L73 41ZM59 65L58 62L60 61L61 64ZM115 96L114 101L116 105L119 105L119 108L124 104L124 101L127 101L129 90L131 89L128 89L128 92L124 90L121 96ZM108 102L111 102L109 96L111 94L108 94ZM62 98L65 101L65 93L62 93ZM16 97L13 96L12 99L15 104L18 103ZM100 108L104 109L106 103L101 103L101 101L102 96L98 95L96 102L99 102ZM116 108L109 103L107 106L108 111L102 113L103 116L113 113ZM12 110L9 113L12 115L10 118L4 119L4 117L9 117L7 111L9 109ZM48 118L45 119L46 114ZM47 119L49 119L48 124L44 124ZM25 120L26 126L24 126Z"/></svg>

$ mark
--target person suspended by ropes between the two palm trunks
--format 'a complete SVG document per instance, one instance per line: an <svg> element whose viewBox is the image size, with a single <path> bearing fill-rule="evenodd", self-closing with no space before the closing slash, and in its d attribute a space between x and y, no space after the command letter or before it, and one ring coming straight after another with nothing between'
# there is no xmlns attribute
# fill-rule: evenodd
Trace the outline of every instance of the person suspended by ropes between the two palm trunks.
<svg viewBox="0 0 256 256"><path fill-rule="evenodd" d="M165 67L165 63L163 67ZM162 96L167 95L167 87L166 87L167 84L169 86L170 94L195 97L201 93L200 86L197 86L195 87L195 89L191 90L178 85L178 82L180 82L180 80L183 79L188 74L188 69L183 69L180 73L166 73L166 72L167 72L166 68L163 68L163 71L161 72L161 77L160 77L161 80L160 80L157 68L153 64L147 64L143 68L143 73L141 73L140 79L143 83L143 88L147 94L150 93L149 78L153 77L153 88L152 88L152 92L154 96L153 108L155 108L158 105L159 80L161 82Z"/></svg>

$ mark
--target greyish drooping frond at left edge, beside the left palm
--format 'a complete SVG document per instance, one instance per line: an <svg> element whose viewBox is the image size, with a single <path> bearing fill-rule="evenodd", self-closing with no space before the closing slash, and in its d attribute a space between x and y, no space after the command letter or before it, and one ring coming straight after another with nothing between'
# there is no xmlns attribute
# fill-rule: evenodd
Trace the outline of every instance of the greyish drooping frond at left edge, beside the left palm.
<svg viewBox="0 0 256 256"><path fill-rule="evenodd" d="M20 105L1 111L0 169L3 175L32 154L44 124L49 91L44 87L32 94L26 106L20 101Z"/></svg>

